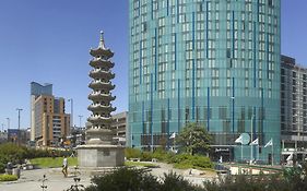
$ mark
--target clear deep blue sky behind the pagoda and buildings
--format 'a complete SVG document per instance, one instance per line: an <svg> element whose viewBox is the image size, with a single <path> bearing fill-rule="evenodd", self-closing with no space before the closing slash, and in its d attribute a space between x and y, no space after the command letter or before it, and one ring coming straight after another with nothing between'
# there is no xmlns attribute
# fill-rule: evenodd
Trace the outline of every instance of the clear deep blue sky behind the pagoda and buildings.
<svg viewBox="0 0 307 191"><path fill-rule="evenodd" d="M282 1L282 53L307 67L307 1ZM0 0L0 128L29 128L29 83L73 99L73 123L90 116L88 53L99 31L115 56L116 112L128 110L129 0ZM70 112L67 103L67 112Z"/></svg>

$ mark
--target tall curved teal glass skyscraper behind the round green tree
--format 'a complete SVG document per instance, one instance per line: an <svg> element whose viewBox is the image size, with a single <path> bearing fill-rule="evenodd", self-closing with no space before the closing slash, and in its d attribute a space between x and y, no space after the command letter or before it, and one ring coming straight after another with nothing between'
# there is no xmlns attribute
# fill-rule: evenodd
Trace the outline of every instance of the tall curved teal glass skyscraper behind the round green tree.
<svg viewBox="0 0 307 191"><path fill-rule="evenodd" d="M280 0L129 0L130 146L199 122L214 155L280 160ZM252 133L251 133L252 132ZM259 146L235 143L241 134ZM273 150L263 145L273 140Z"/></svg>

